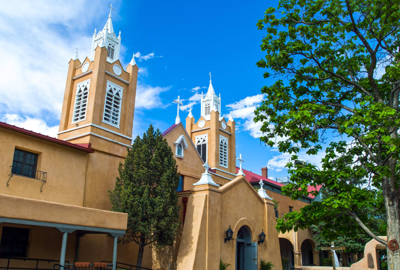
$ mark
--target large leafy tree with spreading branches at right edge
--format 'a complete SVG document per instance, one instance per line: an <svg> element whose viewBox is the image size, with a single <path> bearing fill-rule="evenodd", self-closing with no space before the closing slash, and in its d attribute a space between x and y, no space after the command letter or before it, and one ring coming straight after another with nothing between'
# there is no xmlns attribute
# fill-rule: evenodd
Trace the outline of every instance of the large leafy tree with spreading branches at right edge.
<svg viewBox="0 0 400 270"><path fill-rule="evenodd" d="M280 231L335 218L334 231L330 222L322 227L326 239L353 237L360 226L388 246L362 211L382 208L388 239L400 242L399 17L393 0L280 0L258 21L266 56L257 65L268 69L265 78L277 78L262 88L266 99L256 110L261 139L273 146L278 138L279 150L296 160L334 138L322 168L287 164L295 184L283 192L297 199L322 184L336 192L286 214ZM387 250L388 265L400 269L400 252Z"/></svg>

